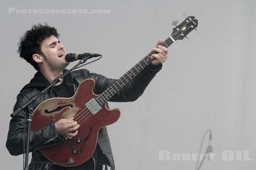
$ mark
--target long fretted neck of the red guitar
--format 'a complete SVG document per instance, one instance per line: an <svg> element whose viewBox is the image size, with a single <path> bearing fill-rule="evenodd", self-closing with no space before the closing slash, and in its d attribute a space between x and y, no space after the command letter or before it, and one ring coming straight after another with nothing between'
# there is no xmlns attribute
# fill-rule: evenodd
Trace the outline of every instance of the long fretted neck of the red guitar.
<svg viewBox="0 0 256 170"><path fill-rule="evenodd" d="M168 48L174 39L170 36L160 45ZM151 55L155 54L154 51L151 51L146 57L144 57L140 62L134 65L129 71L127 71L122 77L113 82L113 84L107 88L102 94L95 98L96 102L99 105L104 105L112 96L114 96L118 91L120 91L128 82L130 82L137 74L139 74L148 64L150 64L153 60L151 59Z"/></svg>

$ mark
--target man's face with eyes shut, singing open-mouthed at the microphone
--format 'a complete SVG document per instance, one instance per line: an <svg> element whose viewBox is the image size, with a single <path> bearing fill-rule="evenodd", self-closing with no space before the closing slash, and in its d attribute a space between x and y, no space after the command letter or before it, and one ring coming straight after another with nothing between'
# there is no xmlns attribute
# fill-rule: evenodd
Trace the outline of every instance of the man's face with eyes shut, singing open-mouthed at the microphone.
<svg viewBox="0 0 256 170"><path fill-rule="evenodd" d="M65 60L64 45L54 35L42 42L41 52L44 54L43 64L49 71L63 71L69 65Z"/></svg>

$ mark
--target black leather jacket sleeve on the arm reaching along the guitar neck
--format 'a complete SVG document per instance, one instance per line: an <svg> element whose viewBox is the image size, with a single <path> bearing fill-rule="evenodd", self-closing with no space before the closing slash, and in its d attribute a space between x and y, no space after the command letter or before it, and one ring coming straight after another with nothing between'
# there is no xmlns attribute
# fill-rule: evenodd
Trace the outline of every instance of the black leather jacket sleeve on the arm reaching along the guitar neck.
<svg viewBox="0 0 256 170"><path fill-rule="evenodd" d="M117 92L109 102L132 102L138 99L148 86L149 82L154 78L158 71L162 68L160 65L148 65L139 74L137 74L128 84L126 84L119 92ZM101 74L84 72L85 77L95 80L94 93L101 94L105 89L109 88L116 79L109 79Z"/></svg>

